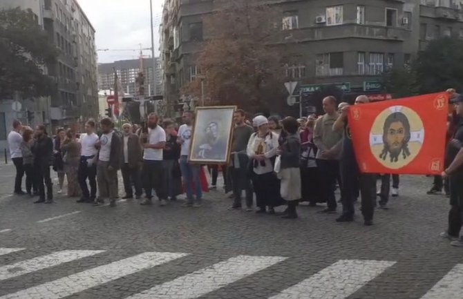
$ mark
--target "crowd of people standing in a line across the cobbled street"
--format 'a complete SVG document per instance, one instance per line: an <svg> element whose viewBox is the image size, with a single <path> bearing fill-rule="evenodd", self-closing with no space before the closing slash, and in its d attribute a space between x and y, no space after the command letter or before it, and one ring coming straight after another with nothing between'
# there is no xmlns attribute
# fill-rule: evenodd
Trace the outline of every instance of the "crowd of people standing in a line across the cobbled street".
<svg viewBox="0 0 463 299"><path fill-rule="evenodd" d="M451 93L448 168L442 176L435 177L428 193L440 193L446 186L451 211L448 230L442 237L451 239L455 246L463 246L463 240L458 239L463 219L463 186L457 184L463 175L463 151L460 151L463 96L455 90L448 92ZM368 102L365 95L355 99L355 105ZM359 171L348 124L349 107L347 103L337 105L337 99L329 96L323 99L325 114L318 117L279 119L257 114L246 119L245 111L236 110L229 164L209 165L213 181L210 188L216 189L220 168L225 191L231 191L233 198L229 210L242 209L244 197L246 211L276 214L275 208L285 205L282 216L287 219L298 217L296 209L300 202L308 202L309 206L326 203L326 208L319 213L337 213L337 205L341 203L342 213L336 221L352 222L355 202L359 199L363 222L366 226L372 225L375 208L387 209L389 196L399 195L399 176ZM120 170L124 199L134 195L140 199L144 193L140 204L152 204L155 195L160 206L164 206L185 191L187 200L182 206L200 207L204 174L201 165L189 160L194 113L185 111L180 127L170 119L164 119L162 124L158 122L158 115L151 113L147 131L124 124L120 135L111 119L105 118L97 135L97 124L89 120L85 133L77 135L73 129L59 129L53 140L44 126L37 126L33 132L15 121L8 136L10 154L17 168L15 193L38 195L36 203L53 202L50 179L53 166L58 174L58 193L62 193L66 176L67 194L79 197L77 202L100 205L109 200L110 206L115 206L119 197L117 171ZM26 192L21 189L24 172ZM377 191L379 178L381 188ZM335 195L337 188L341 194L339 200Z"/></svg>

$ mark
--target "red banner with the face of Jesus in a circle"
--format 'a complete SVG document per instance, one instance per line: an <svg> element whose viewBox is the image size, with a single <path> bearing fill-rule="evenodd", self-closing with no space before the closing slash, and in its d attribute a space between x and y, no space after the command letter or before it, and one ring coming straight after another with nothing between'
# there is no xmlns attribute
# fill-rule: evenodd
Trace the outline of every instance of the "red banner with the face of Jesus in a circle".
<svg viewBox="0 0 463 299"><path fill-rule="evenodd" d="M447 93L351 106L348 121L360 171L440 175L447 113Z"/></svg>

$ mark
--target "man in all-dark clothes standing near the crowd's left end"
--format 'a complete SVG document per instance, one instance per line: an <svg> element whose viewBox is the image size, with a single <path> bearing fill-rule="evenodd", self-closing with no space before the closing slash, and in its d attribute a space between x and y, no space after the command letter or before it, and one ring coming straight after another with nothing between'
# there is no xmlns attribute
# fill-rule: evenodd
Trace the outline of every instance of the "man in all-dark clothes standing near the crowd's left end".
<svg viewBox="0 0 463 299"><path fill-rule="evenodd" d="M48 137L44 125L37 126L35 133L37 140L32 145L34 153L34 167L37 171L37 182L39 184L39 200L35 204L44 202L50 204L53 202L53 184L50 177L50 166L53 162L53 140ZM47 199L45 200L45 186Z"/></svg>

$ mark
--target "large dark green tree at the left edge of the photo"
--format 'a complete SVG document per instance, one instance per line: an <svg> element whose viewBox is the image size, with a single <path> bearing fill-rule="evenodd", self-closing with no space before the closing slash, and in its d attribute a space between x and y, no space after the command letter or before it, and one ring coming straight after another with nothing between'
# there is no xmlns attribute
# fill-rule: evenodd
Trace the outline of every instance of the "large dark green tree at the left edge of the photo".
<svg viewBox="0 0 463 299"><path fill-rule="evenodd" d="M50 95L53 84L44 66L57 50L30 10L0 10L0 98Z"/></svg>

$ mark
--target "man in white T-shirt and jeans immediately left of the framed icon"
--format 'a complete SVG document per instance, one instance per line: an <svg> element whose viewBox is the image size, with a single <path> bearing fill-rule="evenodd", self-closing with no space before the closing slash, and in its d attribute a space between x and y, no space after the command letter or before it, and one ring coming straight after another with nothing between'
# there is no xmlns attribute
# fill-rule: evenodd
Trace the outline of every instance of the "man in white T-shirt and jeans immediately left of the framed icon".
<svg viewBox="0 0 463 299"><path fill-rule="evenodd" d="M200 165L191 164L188 162L188 156L191 146L191 133L193 131L193 113L191 111L185 111L182 115L183 122L180 128L178 128L178 139L177 142L182 145L180 151L180 170L182 171L183 182L185 189L187 189L187 202L183 206L195 206L200 207L202 204L202 190L200 181ZM196 203L194 203L193 197L193 185L196 191Z"/></svg>

